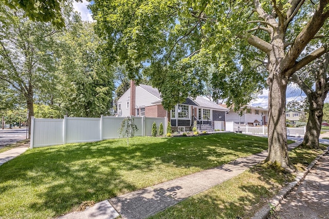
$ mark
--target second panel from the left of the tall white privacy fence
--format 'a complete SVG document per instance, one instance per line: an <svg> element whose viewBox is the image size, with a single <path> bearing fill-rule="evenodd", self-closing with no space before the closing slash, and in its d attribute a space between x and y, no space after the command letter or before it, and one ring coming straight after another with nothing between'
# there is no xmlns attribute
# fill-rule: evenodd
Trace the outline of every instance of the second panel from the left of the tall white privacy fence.
<svg viewBox="0 0 329 219"><path fill-rule="evenodd" d="M66 143L101 141L101 119L67 117Z"/></svg>

